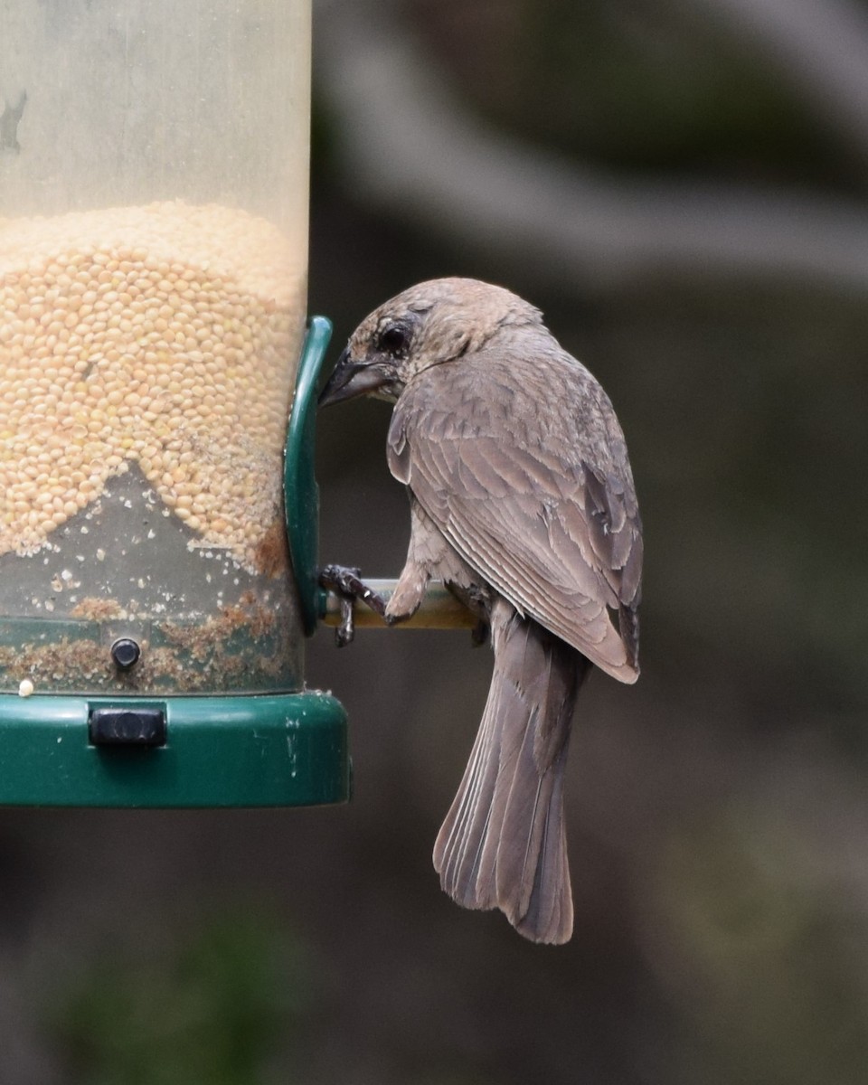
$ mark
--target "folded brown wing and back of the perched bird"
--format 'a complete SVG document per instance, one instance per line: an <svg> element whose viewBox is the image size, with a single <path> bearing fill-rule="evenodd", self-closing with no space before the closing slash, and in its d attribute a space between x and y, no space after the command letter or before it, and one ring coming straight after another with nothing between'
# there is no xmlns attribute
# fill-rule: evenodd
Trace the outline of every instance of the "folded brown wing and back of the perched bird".
<svg viewBox="0 0 868 1085"><path fill-rule="evenodd" d="M395 407L388 461L521 613L635 681L641 526L623 435L587 370L565 355L432 367Z"/></svg>

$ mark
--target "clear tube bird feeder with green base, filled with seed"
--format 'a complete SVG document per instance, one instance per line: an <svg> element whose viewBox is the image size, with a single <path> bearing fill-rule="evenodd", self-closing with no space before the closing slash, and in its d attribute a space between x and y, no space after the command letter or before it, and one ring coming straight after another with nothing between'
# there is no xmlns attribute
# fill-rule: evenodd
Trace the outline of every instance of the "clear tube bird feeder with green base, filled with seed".
<svg viewBox="0 0 868 1085"><path fill-rule="evenodd" d="M0 803L348 794L309 0L0 5Z"/></svg>

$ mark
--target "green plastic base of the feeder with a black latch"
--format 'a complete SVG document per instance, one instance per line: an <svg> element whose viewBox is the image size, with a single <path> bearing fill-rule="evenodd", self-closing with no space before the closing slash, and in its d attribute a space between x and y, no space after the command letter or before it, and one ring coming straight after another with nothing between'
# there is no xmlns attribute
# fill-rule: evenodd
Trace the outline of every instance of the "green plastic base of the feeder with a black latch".
<svg viewBox="0 0 868 1085"><path fill-rule="evenodd" d="M327 693L0 695L0 805L316 806L349 799Z"/></svg>

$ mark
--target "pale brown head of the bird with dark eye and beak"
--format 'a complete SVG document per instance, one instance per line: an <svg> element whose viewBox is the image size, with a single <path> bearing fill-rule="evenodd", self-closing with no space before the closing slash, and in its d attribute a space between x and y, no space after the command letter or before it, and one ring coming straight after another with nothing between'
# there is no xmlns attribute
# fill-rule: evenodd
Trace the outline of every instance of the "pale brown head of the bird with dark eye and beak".
<svg viewBox="0 0 868 1085"><path fill-rule="evenodd" d="M366 317L349 336L320 406L372 395L395 401L414 376L481 350L505 328L542 326L538 309L476 279L432 279Z"/></svg>

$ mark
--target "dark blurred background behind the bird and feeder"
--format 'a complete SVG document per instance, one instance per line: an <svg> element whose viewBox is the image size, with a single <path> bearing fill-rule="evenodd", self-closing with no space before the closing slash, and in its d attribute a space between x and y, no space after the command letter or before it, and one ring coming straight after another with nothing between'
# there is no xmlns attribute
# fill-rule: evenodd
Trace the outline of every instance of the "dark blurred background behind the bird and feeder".
<svg viewBox="0 0 868 1085"><path fill-rule="evenodd" d="M610 393L642 678L597 674L575 934L431 848L490 653L321 629L345 807L0 812L4 1085L868 1080L868 3L316 0L310 312L507 285ZM396 575L390 410L319 423L323 561Z"/></svg>

